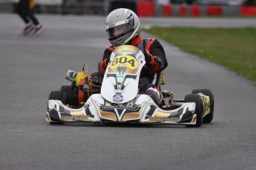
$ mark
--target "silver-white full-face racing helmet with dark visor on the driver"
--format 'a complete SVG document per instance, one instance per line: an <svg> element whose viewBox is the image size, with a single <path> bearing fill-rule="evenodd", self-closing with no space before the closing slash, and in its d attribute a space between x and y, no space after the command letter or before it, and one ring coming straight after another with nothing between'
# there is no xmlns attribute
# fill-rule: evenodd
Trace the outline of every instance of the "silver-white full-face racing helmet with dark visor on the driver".
<svg viewBox="0 0 256 170"><path fill-rule="evenodd" d="M140 35L140 19L132 10L125 8L113 10L106 18L106 31L111 44L119 47Z"/></svg>

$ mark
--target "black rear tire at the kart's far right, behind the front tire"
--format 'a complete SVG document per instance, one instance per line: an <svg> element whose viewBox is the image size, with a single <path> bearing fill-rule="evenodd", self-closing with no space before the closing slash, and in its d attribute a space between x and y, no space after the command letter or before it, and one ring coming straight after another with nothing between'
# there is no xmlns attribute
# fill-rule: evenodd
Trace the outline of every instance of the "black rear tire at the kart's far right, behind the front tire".
<svg viewBox="0 0 256 170"><path fill-rule="evenodd" d="M203 95L208 95L210 98L210 113L203 118L203 123L211 123L214 118L214 94L210 89L193 89L192 94L203 93Z"/></svg>

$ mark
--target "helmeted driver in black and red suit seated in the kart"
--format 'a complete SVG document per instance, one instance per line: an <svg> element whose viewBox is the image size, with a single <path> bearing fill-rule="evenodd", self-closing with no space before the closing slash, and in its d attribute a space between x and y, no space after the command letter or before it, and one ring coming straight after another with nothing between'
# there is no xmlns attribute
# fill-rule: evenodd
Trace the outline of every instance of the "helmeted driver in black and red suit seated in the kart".
<svg viewBox="0 0 256 170"><path fill-rule="evenodd" d="M157 39L140 36L140 19L132 11L119 8L108 14L106 18L106 31L111 46L108 47L103 55L100 69L102 74L108 66L111 52L121 45L133 45L138 47L145 55L146 64L142 68L139 81L140 92L150 95L153 101L160 104L160 92L157 89L157 79L160 72L168 65L165 51Z"/></svg>

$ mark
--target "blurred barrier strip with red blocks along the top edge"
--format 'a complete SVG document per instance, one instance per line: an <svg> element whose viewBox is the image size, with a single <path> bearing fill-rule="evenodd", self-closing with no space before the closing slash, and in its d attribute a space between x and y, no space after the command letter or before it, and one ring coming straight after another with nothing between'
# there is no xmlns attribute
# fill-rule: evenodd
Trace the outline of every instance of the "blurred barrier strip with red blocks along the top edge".
<svg viewBox="0 0 256 170"><path fill-rule="evenodd" d="M18 0L0 0L0 13L14 13ZM256 16L256 0L34 0L36 13L108 15L125 7L138 16Z"/></svg>

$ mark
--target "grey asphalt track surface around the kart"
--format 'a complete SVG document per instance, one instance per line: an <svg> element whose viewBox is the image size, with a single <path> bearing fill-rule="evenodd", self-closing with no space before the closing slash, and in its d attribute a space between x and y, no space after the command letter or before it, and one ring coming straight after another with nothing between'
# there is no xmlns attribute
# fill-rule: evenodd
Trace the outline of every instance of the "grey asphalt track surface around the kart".
<svg viewBox="0 0 256 170"><path fill-rule="evenodd" d="M109 43L104 17L39 19L45 33L24 36L18 16L0 15L0 169L256 169L255 84L162 40L169 63L164 89L177 98L195 88L212 89L212 123L200 128L47 123L50 91L69 84L68 69L79 71L86 62L90 72L96 70ZM195 27L256 24L254 18L142 18L142 26L167 22Z"/></svg>

